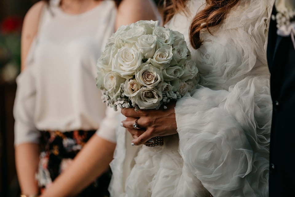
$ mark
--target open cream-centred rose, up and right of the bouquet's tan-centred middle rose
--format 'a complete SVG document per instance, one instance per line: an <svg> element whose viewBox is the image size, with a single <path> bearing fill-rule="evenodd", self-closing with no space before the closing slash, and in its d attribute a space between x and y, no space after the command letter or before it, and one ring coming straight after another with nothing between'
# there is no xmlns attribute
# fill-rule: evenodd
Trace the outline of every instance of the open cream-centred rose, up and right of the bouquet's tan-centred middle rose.
<svg viewBox="0 0 295 197"><path fill-rule="evenodd" d="M161 64L170 64L172 56L173 56L172 46L166 45L166 46L162 46L161 48L156 50L156 52L153 56L153 60L157 64L160 64L160 65Z"/></svg>

